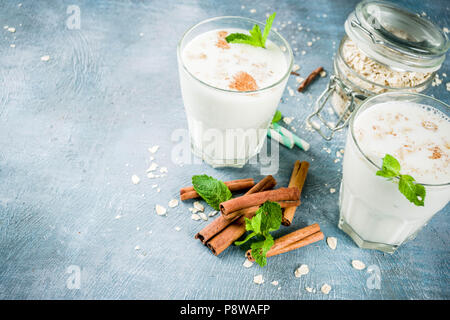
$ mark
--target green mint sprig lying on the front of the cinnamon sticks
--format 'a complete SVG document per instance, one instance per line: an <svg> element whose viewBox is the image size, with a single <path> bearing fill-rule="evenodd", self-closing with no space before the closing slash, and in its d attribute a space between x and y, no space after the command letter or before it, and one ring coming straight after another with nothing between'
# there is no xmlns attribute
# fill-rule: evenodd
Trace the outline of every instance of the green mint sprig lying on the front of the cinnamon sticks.
<svg viewBox="0 0 450 320"><path fill-rule="evenodd" d="M267 264L267 251L272 248L274 240L271 231L278 230L281 226L281 207L276 202L266 201L256 211L252 219L245 218L245 229L251 233L242 241L236 241L235 245L242 245L254 237L264 240L251 244L252 257L261 267Z"/></svg>

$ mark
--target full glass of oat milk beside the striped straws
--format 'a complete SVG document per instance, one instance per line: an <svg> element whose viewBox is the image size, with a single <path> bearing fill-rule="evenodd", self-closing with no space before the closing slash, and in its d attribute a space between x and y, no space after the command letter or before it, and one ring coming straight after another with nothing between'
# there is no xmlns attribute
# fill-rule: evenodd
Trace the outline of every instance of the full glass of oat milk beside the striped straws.
<svg viewBox="0 0 450 320"><path fill-rule="evenodd" d="M243 17L208 19L178 44L191 150L213 167L242 167L259 153L292 69L292 50L273 29L266 48L225 40L255 24L264 29Z"/></svg>

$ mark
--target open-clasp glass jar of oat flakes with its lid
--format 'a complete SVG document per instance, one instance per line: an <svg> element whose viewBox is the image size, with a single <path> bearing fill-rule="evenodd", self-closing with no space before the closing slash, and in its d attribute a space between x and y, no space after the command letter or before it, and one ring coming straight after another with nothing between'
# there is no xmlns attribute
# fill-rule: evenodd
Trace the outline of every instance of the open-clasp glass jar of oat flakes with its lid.
<svg viewBox="0 0 450 320"><path fill-rule="evenodd" d="M450 46L428 19L386 1L362 1L345 22L334 75L315 102L308 124L326 140L344 128L367 97L422 92L433 81ZM331 106L325 108L327 101Z"/></svg>

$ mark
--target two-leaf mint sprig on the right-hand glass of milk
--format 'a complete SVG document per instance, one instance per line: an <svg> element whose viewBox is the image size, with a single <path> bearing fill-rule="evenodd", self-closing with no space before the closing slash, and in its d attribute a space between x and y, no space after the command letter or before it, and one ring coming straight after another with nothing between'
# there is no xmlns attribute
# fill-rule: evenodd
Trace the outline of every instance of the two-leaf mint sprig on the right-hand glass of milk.
<svg viewBox="0 0 450 320"><path fill-rule="evenodd" d="M400 174L400 162L390 154L386 154L383 158L381 170L377 171L377 176L393 180L398 177L398 189L400 192L416 206L423 207L425 204L426 190L421 184L416 183L415 179L407 174Z"/></svg>

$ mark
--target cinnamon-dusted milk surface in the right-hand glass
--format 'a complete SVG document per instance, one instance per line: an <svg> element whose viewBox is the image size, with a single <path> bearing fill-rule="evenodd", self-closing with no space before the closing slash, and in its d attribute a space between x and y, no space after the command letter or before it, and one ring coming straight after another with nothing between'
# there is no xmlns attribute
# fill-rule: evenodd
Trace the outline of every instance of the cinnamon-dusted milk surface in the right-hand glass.
<svg viewBox="0 0 450 320"><path fill-rule="evenodd" d="M385 102L364 110L354 124L361 150L374 163L385 154L401 173L418 182L450 182L450 119L437 109L411 102Z"/></svg>

